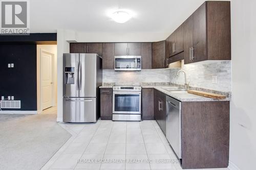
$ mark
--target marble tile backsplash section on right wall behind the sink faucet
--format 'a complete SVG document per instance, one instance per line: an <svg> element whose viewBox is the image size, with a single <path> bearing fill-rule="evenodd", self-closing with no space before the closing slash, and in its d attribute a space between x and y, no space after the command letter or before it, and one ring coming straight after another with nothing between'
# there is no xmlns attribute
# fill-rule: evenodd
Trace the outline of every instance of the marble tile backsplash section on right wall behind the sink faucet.
<svg viewBox="0 0 256 170"><path fill-rule="evenodd" d="M231 91L231 61L203 61L194 64L184 65L187 82L190 86L207 88L219 91ZM180 68L171 68L170 83L184 84L184 74L181 72L176 77ZM217 83L212 83L212 76L217 76Z"/></svg>

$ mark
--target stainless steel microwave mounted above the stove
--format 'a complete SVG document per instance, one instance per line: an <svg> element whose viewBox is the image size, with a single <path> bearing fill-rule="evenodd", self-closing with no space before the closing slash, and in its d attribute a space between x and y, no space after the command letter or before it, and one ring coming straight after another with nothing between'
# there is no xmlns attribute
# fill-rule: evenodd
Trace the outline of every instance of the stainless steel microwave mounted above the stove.
<svg viewBox="0 0 256 170"><path fill-rule="evenodd" d="M141 56L115 56L115 71L140 71Z"/></svg>

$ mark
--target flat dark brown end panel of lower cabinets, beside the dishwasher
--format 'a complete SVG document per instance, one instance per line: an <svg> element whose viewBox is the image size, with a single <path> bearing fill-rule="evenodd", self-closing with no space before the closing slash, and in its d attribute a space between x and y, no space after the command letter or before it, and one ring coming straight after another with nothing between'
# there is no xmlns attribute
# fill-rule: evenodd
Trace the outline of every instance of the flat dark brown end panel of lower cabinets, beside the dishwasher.
<svg viewBox="0 0 256 170"><path fill-rule="evenodd" d="M182 102L182 168L221 168L229 158L229 102Z"/></svg>

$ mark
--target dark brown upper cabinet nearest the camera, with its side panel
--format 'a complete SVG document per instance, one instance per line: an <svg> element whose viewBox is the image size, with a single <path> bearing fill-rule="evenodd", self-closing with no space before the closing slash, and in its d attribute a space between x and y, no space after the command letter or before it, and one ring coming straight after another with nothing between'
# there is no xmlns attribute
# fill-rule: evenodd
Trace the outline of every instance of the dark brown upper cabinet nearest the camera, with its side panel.
<svg viewBox="0 0 256 170"><path fill-rule="evenodd" d="M207 1L184 22L185 64L231 60L230 2Z"/></svg>

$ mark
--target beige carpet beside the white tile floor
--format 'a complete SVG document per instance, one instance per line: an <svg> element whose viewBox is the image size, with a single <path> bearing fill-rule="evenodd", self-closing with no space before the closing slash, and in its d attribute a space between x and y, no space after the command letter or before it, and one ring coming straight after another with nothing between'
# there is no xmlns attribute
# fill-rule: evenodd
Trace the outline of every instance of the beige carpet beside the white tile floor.
<svg viewBox="0 0 256 170"><path fill-rule="evenodd" d="M56 114L0 113L0 169L40 169L70 137Z"/></svg>

